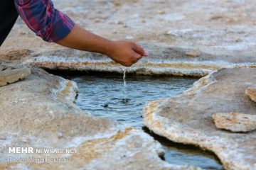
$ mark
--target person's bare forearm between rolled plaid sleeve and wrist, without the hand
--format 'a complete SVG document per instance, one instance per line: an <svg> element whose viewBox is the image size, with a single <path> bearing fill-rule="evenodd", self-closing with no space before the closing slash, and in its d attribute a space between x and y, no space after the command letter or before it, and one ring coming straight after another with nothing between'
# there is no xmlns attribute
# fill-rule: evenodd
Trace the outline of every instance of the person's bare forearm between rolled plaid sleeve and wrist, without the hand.
<svg viewBox="0 0 256 170"><path fill-rule="evenodd" d="M98 35L90 33L84 28L75 24L73 30L62 40L57 41L59 45L77 50L98 52L103 55L110 55L114 48L114 42Z"/></svg>

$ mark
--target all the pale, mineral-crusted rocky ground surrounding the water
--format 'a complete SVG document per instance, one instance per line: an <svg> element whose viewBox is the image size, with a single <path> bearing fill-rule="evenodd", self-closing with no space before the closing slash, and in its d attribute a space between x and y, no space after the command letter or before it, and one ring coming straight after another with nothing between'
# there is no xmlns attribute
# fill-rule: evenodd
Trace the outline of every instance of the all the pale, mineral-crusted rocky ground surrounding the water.
<svg viewBox="0 0 256 170"><path fill-rule="evenodd" d="M209 74L182 96L149 103L144 125L169 140L215 152L226 169L256 169L255 5L253 0L55 1L87 30L145 47L149 57L128 73ZM43 42L20 18L0 49L1 60L48 69L124 68L102 55ZM141 130L80 111L73 104L75 90L72 81L41 69L0 88L1 168L141 169L143 164L145 169L193 169L162 162L161 147ZM4 149L11 145L70 146L79 153L62 165L11 164L4 160Z"/></svg>

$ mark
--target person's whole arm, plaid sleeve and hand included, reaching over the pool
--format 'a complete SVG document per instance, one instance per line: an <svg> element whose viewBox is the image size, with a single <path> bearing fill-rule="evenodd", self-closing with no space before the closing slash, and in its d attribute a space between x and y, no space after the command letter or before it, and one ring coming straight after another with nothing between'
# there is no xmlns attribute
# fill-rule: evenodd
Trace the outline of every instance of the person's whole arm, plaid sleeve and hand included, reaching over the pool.
<svg viewBox="0 0 256 170"><path fill-rule="evenodd" d="M131 66L148 55L134 42L107 40L88 32L55 9L50 0L15 0L15 4L27 26L47 42L99 52L124 66Z"/></svg>

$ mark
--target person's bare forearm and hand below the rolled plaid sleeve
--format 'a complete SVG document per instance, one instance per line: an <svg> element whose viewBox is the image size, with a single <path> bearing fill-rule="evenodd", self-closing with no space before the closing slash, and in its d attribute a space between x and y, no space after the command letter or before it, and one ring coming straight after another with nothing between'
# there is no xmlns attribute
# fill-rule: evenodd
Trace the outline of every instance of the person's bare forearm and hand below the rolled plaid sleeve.
<svg viewBox="0 0 256 170"><path fill-rule="evenodd" d="M107 40L78 25L74 26L68 36L56 43L65 47L107 55L124 66L131 66L143 56L148 55L142 47L134 42Z"/></svg>

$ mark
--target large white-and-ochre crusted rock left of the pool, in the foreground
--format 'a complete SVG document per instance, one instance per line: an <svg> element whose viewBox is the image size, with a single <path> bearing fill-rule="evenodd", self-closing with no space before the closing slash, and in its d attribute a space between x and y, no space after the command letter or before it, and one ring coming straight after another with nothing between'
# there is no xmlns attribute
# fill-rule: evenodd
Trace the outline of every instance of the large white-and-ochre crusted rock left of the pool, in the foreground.
<svg viewBox="0 0 256 170"><path fill-rule="evenodd" d="M75 82L42 69L31 72L0 87L0 169L196 169L162 161L161 145L142 130L81 111L73 103ZM9 147L73 152L14 154Z"/></svg>

